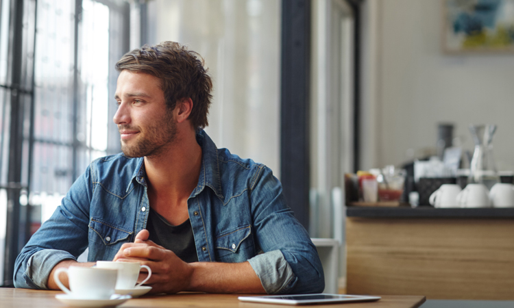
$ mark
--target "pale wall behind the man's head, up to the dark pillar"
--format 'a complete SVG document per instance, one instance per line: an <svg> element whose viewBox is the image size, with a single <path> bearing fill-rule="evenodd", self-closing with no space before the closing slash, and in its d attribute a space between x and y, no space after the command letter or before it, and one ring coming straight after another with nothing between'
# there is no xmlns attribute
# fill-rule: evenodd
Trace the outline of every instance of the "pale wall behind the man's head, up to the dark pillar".
<svg viewBox="0 0 514 308"><path fill-rule="evenodd" d="M148 2L149 44L197 51L214 84L206 132L280 178L280 1Z"/></svg>

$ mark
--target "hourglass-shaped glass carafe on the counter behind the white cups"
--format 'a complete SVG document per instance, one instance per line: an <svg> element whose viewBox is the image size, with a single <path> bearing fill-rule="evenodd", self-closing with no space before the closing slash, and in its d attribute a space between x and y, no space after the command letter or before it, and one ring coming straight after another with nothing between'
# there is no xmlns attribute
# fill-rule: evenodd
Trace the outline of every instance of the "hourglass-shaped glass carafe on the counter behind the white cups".
<svg viewBox="0 0 514 308"><path fill-rule="evenodd" d="M490 190L499 181L492 144L496 125L469 125L469 131L475 142L475 151L469 166L468 183L482 183Z"/></svg>

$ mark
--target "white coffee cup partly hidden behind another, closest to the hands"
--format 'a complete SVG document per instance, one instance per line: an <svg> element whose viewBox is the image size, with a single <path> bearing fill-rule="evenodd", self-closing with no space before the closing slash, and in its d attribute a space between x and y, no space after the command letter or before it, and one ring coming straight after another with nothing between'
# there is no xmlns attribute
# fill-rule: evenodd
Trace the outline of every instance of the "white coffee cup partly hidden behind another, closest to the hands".
<svg viewBox="0 0 514 308"><path fill-rule="evenodd" d="M140 265L138 262L97 261L97 268L118 270L117 290L130 290L139 287L147 282L151 276L151 269L148 266ZM136 285L141 268L146 268L148 276Z"/></svg>

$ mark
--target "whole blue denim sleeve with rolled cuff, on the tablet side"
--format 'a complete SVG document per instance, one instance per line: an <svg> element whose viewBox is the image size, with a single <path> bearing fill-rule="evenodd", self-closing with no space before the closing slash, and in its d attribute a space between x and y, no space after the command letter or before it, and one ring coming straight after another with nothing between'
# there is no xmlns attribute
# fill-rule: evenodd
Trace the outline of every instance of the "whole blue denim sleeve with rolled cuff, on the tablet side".
<svg viewBox="0 0 514 308"><path fill-rule="evenodd" d="M268 294L323 292L323 266L316 247L286 205L280 181L262 166L252 187L256 239L262 251L249 263Z"/></svg>

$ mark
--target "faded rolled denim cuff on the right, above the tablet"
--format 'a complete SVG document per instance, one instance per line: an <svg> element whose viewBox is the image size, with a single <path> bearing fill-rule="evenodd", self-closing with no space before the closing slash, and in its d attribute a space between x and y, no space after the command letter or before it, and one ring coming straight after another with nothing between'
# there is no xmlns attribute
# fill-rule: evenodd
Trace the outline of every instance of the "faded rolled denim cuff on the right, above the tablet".
<svg viewBox="0 0 514 308"><path fill-rule="evenodd" d="M269 251L249 259L267 294L287 293L298 280L282 251Z"/></svg>

